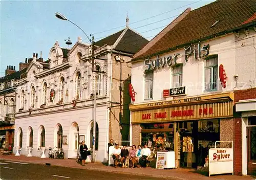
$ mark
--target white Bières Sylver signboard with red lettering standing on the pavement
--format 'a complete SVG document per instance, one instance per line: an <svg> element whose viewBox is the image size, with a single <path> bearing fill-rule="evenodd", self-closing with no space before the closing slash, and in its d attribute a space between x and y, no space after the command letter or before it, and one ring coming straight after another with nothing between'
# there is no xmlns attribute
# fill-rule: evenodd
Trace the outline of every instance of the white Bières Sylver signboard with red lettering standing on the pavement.
<svg viewBox="0 0 256 180"><path fill-rule="evenodd" d="M233 174L233 148L209 149L209 176L227 173Z"/></svg>

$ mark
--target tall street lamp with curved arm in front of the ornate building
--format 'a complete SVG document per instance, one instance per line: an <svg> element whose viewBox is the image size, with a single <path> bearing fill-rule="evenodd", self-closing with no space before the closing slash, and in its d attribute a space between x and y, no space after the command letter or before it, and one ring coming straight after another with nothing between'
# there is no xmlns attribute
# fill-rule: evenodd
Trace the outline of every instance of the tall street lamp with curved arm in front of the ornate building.
<svg viewBox="0 0 256 180"><path fill-rule="evenodd" d="M65 17L64 15L60 14L59 12L55 13L55 16L61 20L67 20L69 22L71 22L73 25L75 25L77 28L79 28L83 34L86 35L86 37L89 39L91 46L92 46L92 73L93 73L93 86L94 86L94 90L93 90L93 94L94 94L94 108L93 108L93 161L95 162L95 140L96 140L96 89L95 89L95 70L94 70L94 37L92 35L92 39L90 39L88 37L88 35L79 27L77 26L74 22L72 22L71 20L69 20L67 17Z"/></svg>

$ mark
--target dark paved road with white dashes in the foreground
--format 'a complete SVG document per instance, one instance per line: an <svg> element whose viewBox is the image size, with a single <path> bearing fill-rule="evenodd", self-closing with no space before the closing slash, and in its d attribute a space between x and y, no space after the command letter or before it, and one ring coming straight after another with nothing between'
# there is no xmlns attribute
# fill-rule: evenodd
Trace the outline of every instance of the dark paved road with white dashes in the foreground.
<svg viewBox="0 0 256 180"><path fill-rule="evenodd" d="M163 178L118 174L87 169L46 166L15 161L0 161L1 179L152 179Z"/></svg>

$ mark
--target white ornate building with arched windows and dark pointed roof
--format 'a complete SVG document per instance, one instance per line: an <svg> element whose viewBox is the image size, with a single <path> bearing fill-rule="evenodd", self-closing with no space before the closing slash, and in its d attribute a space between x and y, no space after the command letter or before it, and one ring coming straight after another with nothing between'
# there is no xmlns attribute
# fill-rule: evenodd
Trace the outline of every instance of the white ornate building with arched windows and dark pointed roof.
<svg viewBox="0 0 256 180"><path fill-rule="evenodd" d="M128 27L95 43L99 72L95 79L96 161L106 161L109 139L129 138L129 108L123 108L130 103L125 85L130 82L131 68L126 62L145 43ZM56 146L64 149L65 158L75 158L82 140L92 148L91 58L90 44L79 37L71 49L61 48L56 41L47 61L33 57L23 78L16 81L15 145L22 146L22 154L27 154L27 146L33 147L33 156L41 155L40 146Z"/></svg>

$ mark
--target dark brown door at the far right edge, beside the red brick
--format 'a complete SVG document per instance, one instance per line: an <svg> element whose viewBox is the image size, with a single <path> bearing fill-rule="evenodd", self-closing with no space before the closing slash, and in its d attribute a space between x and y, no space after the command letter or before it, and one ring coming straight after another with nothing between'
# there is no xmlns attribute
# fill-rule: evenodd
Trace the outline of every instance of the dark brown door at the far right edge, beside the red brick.
<svg viewBox="0 0 256 180"><path fill-rule="evenodd" d="M247 127L247 174L256 175L256 127Z"/></svg>

